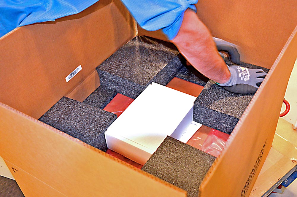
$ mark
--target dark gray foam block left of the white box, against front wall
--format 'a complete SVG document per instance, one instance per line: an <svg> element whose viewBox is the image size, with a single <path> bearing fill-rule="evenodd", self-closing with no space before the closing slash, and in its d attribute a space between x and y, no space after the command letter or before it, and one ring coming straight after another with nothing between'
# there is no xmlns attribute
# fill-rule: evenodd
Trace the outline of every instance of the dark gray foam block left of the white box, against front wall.
<svg viewBox="0 0 297 197"><path fill-rule="evenodd" d="M95 148L106 151L104 132L116 118L116 114L62 97L39 120Z"/></svg>

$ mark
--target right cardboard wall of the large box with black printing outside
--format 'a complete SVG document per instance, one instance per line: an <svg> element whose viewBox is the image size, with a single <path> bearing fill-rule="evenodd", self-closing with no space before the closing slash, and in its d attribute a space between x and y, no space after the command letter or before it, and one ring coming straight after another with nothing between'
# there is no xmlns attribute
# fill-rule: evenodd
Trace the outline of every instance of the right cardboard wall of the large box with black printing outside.
<svg viewBox="0 0 297 197"><path fill-rule="evenodd" d="M287 82L296 60L296 32L297 27L238 121L222 154L205 176L199 196L248 196L251 192L265 161L263 158L271 147ZM279 92L277 95L273 94L275 88Z"/></svg>

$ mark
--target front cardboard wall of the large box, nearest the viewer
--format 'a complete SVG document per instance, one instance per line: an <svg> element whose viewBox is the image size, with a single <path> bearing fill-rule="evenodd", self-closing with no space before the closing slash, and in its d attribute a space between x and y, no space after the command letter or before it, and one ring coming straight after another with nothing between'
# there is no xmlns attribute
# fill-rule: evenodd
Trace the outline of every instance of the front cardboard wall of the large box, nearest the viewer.
<svg viewBox="0 0 297 197"><path fill-rule="evenodd" d="M0 155L18 170L15 178L28 196L35 196L38 186L45 187L39 196L47 195L48 186L66 196L186 196L184 190L2 103L0 117ZM48 186L35 185L34 179L29 187L26 173Z"/></svg>

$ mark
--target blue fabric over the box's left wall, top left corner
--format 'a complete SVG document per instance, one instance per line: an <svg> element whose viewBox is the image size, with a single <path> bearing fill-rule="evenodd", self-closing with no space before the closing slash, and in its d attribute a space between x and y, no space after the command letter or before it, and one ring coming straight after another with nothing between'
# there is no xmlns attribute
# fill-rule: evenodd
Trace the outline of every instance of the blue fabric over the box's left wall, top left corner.
<svg viewBox="0 0 297 197"><path fill-rule="evenodd" d="M77 14L98 0L0 1L0 37L19 26Z"/></svg>

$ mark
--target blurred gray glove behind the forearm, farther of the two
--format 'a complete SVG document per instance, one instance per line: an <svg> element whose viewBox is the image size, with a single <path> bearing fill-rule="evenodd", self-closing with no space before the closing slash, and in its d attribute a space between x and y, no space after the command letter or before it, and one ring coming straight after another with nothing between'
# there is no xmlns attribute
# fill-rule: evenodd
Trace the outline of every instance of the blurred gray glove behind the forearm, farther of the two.
<svg viewBox="0 0 297 197"><path fill-rule="evenodd" d="M225 40L213 37L214 42L217 45L218 51L225 51L229 54L231 62L234 62L235 64L240 63L240 55L237 51L236 45L227 42ZM220 53L221 54L221 53ZM221 55L222 56L222 55ZM223 57L224 58L224 57Z"/></svg>

